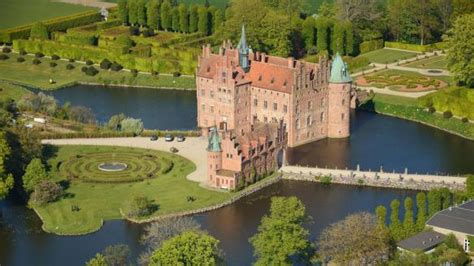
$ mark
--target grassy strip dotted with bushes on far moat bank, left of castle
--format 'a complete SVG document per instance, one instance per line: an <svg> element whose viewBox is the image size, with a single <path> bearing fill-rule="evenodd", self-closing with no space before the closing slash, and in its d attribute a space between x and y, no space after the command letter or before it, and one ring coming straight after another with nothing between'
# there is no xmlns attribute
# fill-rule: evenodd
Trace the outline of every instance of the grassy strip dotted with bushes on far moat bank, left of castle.
<svg viewBox="0 0 474 266"><path fill-rule="evenodd" d="M25 62L17 62L18 54L10 53L7 60L0 61L0 79L25 84L28 86L41 88L45 90L57 89L76 82L101 83L109 85L131 85L131 86L149 86L149 87L169 87L169 88L195 88L195 80L192 77L172 77L172 76L152 76L149 74L138 74L134 77L130 72L105 71L98 66L100 70L96 76L87 76L81 71L85 66L81 63L72 63L75 66L73 70L67 70L67 61L55 61L58 65L54 68L50 67L51 59L41 58L41 64L33 65L33 56L25 56ZM54 84L49 83L49 79L55 81Z"/></svg>

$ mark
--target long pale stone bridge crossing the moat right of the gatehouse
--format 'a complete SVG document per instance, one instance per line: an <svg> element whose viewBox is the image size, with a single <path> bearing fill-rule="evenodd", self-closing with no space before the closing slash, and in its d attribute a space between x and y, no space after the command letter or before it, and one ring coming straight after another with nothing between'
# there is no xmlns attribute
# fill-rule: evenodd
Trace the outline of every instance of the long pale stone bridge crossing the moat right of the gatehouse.
<svg viewBox="0 0 474 266"><path fill-rule="evenodd" d="M330 176L332 183L391 187L416 190L447 187L463 189L466 178L462 176L441 176L430 174L389 173L383 171L360 171L350 169L329 169L302 166L283 166L283 178L292 180L319 181L319 177Z"/></svg>

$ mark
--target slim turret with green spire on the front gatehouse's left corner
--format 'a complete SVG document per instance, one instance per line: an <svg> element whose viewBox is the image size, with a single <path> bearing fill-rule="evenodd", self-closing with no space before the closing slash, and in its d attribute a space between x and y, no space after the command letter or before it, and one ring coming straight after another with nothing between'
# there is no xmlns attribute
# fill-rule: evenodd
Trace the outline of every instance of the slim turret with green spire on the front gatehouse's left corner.
<svg viewBox="0 0 474 266"><path fill-rule="evenodd" d="M217 171L222 168L221 139L217 128L211 127L207 145L207 182L214 187L220 187Z"/></svg>

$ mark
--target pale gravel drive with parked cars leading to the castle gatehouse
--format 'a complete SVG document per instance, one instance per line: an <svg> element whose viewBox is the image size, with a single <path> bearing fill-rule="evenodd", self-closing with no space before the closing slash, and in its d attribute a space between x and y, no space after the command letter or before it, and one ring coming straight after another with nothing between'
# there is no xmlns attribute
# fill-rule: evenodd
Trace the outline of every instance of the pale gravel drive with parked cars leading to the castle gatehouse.
<svg viewBox="0 0 474 266"><path fill-rule="evenodd" d="M196 171L187 176L191 181L199 182L206 186L207 140L204 137L188 137L184 142L166 142L164 138L150 141L149 138L84 138L84 139L48 139L43 144L51 145L100 145L100 146L123 146L133 148L144 148L169 152L171 147L176 147L181 155L196 164Z"/></svg>

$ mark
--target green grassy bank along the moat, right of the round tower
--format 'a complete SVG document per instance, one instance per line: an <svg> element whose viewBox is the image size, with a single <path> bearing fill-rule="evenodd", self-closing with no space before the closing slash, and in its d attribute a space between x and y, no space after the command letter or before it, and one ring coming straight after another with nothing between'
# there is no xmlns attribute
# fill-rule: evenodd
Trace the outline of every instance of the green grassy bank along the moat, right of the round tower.
<svg viewBox="0 0 474 266"><path fill-rule="evenodd" d="M429 113L417 105L416 99L401 96L375 94L375 96L359 107L361 110L388 115L421 123L450 134L474 140L474 124L462 122L457 118L444 118L439 113Z"/></svg>

